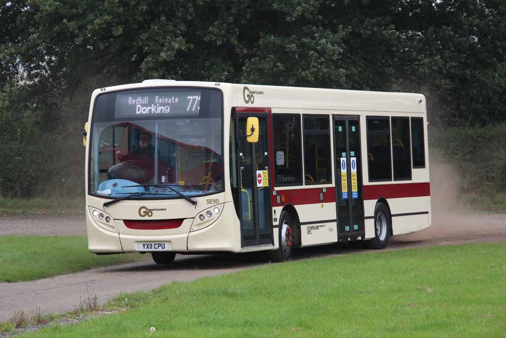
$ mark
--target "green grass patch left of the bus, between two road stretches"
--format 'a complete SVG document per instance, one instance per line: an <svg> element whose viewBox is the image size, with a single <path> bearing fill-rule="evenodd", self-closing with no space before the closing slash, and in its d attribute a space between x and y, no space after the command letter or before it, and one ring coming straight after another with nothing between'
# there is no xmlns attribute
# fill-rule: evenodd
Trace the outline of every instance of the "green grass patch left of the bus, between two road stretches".
<svg viewBox="0 0 506 338"><path fill-rule="evenodd" d="M145 259L137 253L97 256L86 236L0 237L0 282L19 282Z"/></svg>

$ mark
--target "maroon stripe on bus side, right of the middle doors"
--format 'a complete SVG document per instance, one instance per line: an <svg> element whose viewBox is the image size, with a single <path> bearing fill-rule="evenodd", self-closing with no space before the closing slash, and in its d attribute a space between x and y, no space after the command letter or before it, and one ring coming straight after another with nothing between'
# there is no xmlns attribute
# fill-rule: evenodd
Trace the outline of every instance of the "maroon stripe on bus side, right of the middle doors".
<svg viewBox="0 0 506 338"><path fill-rule="evenodd" d="M364 200L377 200L380 197L388 199L420 196L431 196L429 182L364 185Z"/></svg>

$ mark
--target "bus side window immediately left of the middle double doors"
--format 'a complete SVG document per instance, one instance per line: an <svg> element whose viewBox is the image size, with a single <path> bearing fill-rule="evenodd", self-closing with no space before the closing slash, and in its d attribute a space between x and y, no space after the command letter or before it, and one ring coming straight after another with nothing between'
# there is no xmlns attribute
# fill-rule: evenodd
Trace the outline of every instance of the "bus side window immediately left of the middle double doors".
<svg viewBox="0 0 506 338"><path fill-rule="evenodd" d="M332 182L328 116L304 116L304 169L306 184Z"/></svg>

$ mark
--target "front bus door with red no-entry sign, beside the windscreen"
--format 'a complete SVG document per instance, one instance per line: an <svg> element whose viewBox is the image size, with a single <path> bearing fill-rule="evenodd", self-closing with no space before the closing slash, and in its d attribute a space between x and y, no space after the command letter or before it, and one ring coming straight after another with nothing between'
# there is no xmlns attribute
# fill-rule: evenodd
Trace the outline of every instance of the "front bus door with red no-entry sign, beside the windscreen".
<svg viewBox="0 0 506 338"><path fill-rule="evenodd" d="M246 120L258 117L259 138L248 143ZM236 114L237 177L240 189L241 246L273 244L271 222L271 182L269 181L269 116Z"/></svg>

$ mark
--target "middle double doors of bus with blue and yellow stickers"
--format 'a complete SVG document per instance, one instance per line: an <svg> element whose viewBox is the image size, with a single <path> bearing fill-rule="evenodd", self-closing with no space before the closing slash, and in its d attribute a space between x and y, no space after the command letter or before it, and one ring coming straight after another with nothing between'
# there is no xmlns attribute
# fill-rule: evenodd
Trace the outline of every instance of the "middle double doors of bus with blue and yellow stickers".
<svg viewBox="0 0 506 338"><path fill-rule="evenodd" d="M364 238L360 121L354 116L334 116L333 121L339 239Z"/></svg>

